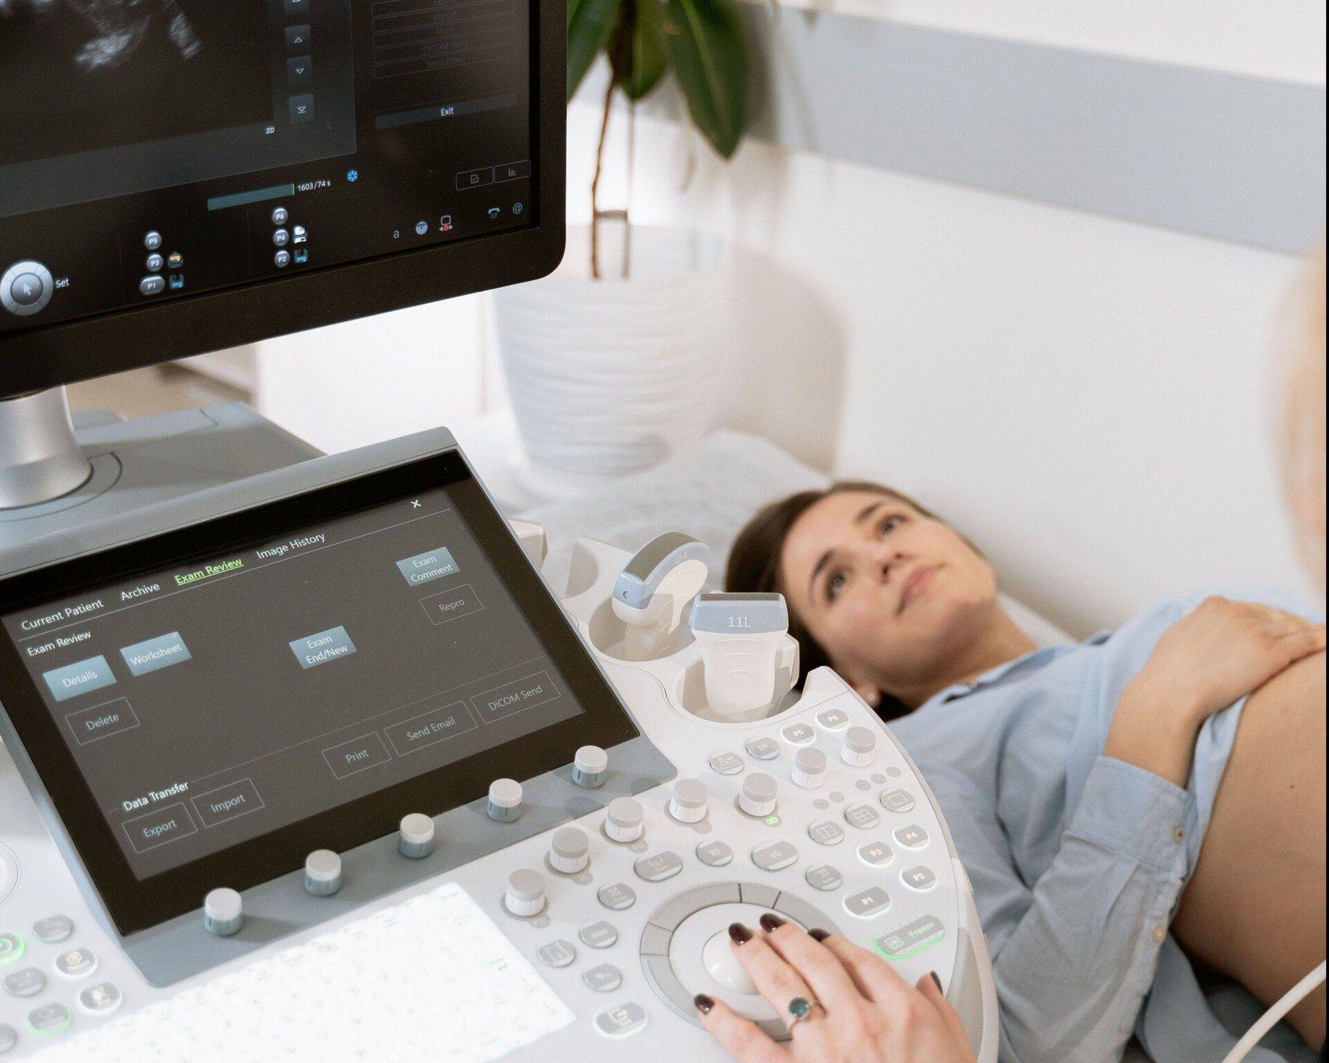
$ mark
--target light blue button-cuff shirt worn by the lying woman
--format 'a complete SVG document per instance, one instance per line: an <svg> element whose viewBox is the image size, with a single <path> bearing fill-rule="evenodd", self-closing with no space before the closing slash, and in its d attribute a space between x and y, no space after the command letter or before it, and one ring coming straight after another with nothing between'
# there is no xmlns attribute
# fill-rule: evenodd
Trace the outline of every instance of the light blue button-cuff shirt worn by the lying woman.
<svg viewBox="0 0 1329 1063"><path fill-rule="evenodd" d="M1205 723L1185 789L1103 756L1122 690L1204 597L1164 599L1114 634L1027 654L890 724L973 882L1006 1063L1115 1063L1132 1034L1156 1063L1219 1060L1235 1044L1168 926L1244 702Z"/></svg>

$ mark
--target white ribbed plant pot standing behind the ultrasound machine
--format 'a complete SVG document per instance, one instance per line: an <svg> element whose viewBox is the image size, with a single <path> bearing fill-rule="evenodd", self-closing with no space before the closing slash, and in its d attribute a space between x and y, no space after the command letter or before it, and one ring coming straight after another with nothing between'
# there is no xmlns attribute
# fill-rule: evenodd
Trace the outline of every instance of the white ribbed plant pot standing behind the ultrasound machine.
<svg viewBox="0 0 1329 1063"><path fill-rule="evenodd" d="M569 229L549 278L494 292L508 392L544 496L590 490L700 445L720 403L728 258L712 237L602 226L601 278L589 230Z"/></svg>

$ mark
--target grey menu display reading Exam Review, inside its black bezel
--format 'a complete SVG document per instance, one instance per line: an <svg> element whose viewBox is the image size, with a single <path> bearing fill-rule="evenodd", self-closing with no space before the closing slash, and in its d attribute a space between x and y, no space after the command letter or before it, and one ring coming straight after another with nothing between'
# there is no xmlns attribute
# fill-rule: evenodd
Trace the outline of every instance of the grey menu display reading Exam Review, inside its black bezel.
<svg viewBox="0 0 1329 1063"><path fill-rule="evenodd" d="M448 488L3 622L138 880L583 711Z"/></svg>

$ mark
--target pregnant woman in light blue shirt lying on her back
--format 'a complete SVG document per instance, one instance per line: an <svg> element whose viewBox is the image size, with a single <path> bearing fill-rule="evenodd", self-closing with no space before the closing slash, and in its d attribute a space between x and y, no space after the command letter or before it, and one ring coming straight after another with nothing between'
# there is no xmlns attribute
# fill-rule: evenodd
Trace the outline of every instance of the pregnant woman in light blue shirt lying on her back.
<svg viewBox="0 0 1329 1063"><path fill-rule="evenodd" d="M928 779L987 931L1003 1060L1118 1060L1132 1034L1158 1063L1221 1060L1197 970L1268 1007L1325 958L1320 623L1170 599L1039 650L983 555L873 484L768 506L727 582L783 593L804 667L835 667ZM1324 987L1290 1022L1322 1050Z"/></svg>

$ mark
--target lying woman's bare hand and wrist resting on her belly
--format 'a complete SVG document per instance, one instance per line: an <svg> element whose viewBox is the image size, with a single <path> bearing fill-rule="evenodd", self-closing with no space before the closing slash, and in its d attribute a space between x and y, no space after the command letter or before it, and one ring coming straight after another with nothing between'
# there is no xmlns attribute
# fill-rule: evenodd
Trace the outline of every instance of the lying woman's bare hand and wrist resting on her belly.
<svg viewBox="0 0 1329 1063"><path fill-rule="evenodd" d="M1183 787L1209 716L1324 648L1322 625L1208 598L1164 632L1122 691L1103 752Z"/></svg>

